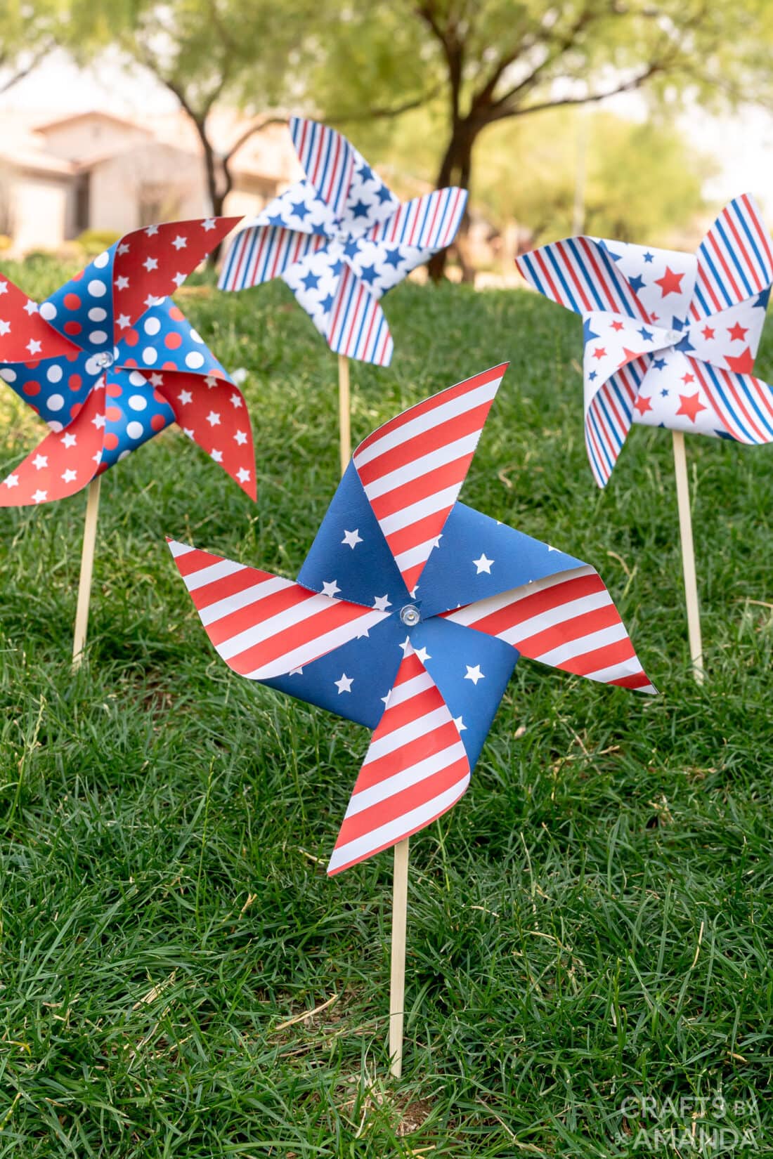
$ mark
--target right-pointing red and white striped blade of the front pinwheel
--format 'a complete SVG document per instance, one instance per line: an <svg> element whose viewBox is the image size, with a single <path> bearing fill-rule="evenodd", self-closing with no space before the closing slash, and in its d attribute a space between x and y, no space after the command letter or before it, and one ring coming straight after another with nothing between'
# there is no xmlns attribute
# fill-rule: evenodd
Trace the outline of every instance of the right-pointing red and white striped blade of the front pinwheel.
<svg viewBox="0 0 773 1159"><path fill-rule="evenodd" d="M468 604L446 619L497 636L522 656L601 684L657 690L620 613L591 567L574 568Z"/></svg>

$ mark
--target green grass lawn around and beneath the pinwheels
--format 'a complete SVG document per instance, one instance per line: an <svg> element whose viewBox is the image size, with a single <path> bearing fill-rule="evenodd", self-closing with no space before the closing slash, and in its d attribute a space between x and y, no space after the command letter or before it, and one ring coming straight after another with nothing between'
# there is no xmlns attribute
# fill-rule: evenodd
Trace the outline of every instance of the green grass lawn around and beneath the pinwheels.
<svg viewBox="0 0 773 1159"><path fill-rule="evenodd" d="M297 574L337 482L335 358L282 284L181 304L250 371L257 505L174 428L110 471L78 676L85 496L0 512L0 1159L685 1156L678 1100L719 1096L695 1130L770 1154L773 451L688 440L700 688L669 435L635 428L597 491L576 319L389 294L355 438L509 357L462 497L592 562L662 688L518 665L469 792L411 843L393 1083L391 858L323 872L367 732L232 675L163 542ZM39 430L10 391L0 423L10 468Z"/></svg>

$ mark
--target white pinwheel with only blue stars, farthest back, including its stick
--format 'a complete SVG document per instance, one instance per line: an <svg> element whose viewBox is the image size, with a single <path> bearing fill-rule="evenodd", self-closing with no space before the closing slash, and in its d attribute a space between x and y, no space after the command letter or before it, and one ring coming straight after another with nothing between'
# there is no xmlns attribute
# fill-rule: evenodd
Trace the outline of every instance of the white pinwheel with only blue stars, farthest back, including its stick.
<svg viewBox="0 0 773 1159"><path fill-rule="evenodd" d="M388 366L379 299L451 245L467 192L440 189L401 204L345 137L305 117L290 133L306 176L234 238L221 290L282 277L338 355L341 473L351 454L347 358Z"/></svg>

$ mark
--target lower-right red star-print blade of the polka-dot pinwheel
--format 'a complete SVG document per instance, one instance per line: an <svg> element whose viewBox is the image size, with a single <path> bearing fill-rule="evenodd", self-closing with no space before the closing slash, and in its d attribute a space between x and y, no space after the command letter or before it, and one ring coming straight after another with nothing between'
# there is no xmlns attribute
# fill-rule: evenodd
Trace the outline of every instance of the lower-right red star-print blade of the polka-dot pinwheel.
<svg viewBox="0 0 773 1159"><path fill-rule="evenodd" d="M174 413L185 435L249 495L256 498L253 427L238 386L197 374L165 371L154 374L155 391Z"/></svg>

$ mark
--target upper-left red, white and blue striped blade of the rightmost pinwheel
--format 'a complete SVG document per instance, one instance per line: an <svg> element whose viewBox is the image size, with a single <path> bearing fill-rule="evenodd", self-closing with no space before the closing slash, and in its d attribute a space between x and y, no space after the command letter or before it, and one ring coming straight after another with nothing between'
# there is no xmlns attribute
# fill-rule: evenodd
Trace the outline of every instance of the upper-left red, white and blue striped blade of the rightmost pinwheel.
<svg viewBox="0 0 773 1159"><path fill-rule="evenodd" d="M611 311L650 321L635 289L607 250L607 242L598 238L553 241L522 254L516 265L534 290L576 314Z"/></svg>

